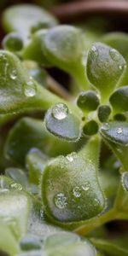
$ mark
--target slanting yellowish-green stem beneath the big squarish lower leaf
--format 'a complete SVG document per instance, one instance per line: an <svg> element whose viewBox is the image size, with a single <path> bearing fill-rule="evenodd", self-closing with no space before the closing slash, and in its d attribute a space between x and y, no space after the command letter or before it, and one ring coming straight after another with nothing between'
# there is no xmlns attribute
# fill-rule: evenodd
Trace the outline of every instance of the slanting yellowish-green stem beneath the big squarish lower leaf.
<svg viewBox="0 0 128 256"><path fill-rule="evenodd" d="M86 222L86 224L83 224L79 228L75 229L74 232L77 234L84 236L88 232L95 230L102 224L108 223L109 221L116 218L116 211L114 209L109 210L99 218L92 218L89 221Z"/></svg>

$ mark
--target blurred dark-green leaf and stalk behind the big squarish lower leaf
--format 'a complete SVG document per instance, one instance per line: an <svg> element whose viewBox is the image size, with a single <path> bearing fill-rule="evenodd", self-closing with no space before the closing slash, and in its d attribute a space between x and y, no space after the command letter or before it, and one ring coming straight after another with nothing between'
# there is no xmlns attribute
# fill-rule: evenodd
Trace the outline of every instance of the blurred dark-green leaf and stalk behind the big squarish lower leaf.
<svg viewBox="0 0 128 256"><path fill-rule="evenodd" d="M49 144L49 147L47 145ZM74 143L61 141L45 129L44 122L38 119L22 118L9 131L4 146L4 155L18 165L25 164L26 154L31 148L38 148L44 154L56 156L69 154L74 150Z"/></svg>

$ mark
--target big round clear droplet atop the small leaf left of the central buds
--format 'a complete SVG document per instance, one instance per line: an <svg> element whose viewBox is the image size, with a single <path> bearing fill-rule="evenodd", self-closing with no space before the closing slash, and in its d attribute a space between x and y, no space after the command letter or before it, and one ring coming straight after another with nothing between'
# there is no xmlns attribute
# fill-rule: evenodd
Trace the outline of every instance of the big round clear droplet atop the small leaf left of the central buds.
<svg viewBox="0 0 128 256"><path fill-rule="evenodd" d="M55 119L65 119L68 114L68 108L66 104L58 103L52 108L52 114Z"/></svg>

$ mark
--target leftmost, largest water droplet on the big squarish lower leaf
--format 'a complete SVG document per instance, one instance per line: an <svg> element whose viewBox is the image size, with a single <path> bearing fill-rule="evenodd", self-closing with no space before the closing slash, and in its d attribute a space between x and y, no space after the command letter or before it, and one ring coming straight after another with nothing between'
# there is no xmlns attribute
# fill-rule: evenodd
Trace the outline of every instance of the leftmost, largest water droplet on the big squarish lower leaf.
<svg viewBox="0 0 128 256"><path fill-rule="evenodd" d="M55 206L59 209L67 207L67 196L64 193L58 193L54 198Z"/></svg>

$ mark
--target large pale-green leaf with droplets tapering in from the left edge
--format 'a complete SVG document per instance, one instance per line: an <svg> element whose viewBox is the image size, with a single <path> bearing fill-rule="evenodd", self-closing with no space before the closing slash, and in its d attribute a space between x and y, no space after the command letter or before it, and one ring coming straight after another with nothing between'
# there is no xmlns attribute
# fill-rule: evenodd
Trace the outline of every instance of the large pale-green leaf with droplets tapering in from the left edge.
<svg viewBox="0 0 128 256"><path fill-rule="evenodd" d="M36 83L9 51L0 51L0 78L0 113L49 108L60 100Z"/></svg>

